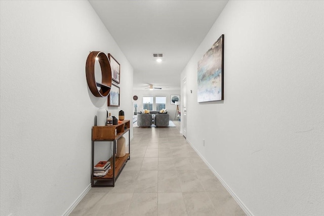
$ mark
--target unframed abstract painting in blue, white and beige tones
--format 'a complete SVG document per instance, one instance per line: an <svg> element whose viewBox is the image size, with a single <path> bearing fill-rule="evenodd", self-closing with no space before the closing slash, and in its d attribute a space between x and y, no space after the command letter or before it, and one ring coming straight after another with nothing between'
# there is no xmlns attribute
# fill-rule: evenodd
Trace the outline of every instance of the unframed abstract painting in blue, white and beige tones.
<svg viewBox="0 0 324 216"><path fill-rule="evenodd" d="M198 102L224 100L224 34L198 61Z"/></svg>

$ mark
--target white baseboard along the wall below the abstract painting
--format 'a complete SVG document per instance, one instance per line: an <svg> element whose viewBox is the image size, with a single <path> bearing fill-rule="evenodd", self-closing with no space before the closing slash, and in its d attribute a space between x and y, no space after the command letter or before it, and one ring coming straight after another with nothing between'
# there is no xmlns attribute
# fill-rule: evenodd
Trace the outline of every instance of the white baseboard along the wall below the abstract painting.
<svg viewBox="0 0 324 216"><path fill-rule="evenodd" d="M218 175L217 171L209 164L209 162L204 158L203 155L200 154L200 152L187 140L187 142L190 144L190 146L195 150L195 152L199 155L199 157L206 163L206 165L211 169L211 171L214 173L216 178L222 183L222 185L225 187L225 189L228 191L228 193L234 198L234 200L237 202L237 204L244 210L244 212L248 216L253 216L253 213L249 210L249 208L242 203L242 201L236 196L236 194L230 189L230 187L226 184L226 182Z"/></svg>

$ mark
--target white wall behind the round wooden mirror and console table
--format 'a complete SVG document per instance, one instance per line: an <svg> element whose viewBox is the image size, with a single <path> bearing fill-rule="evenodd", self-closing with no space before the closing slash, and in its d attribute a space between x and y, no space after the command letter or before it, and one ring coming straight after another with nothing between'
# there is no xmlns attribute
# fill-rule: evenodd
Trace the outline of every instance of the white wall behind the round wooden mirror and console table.
<svg viewBox="0 0 324 216"><path fill-rule="evenodd" d="M90 51L120 63L132 117L133 68L88 1L1 1L1 215L62 215L89 188L91 127L106 98L86 81ZM11 214L12 213L12 214Z"/></svg>

